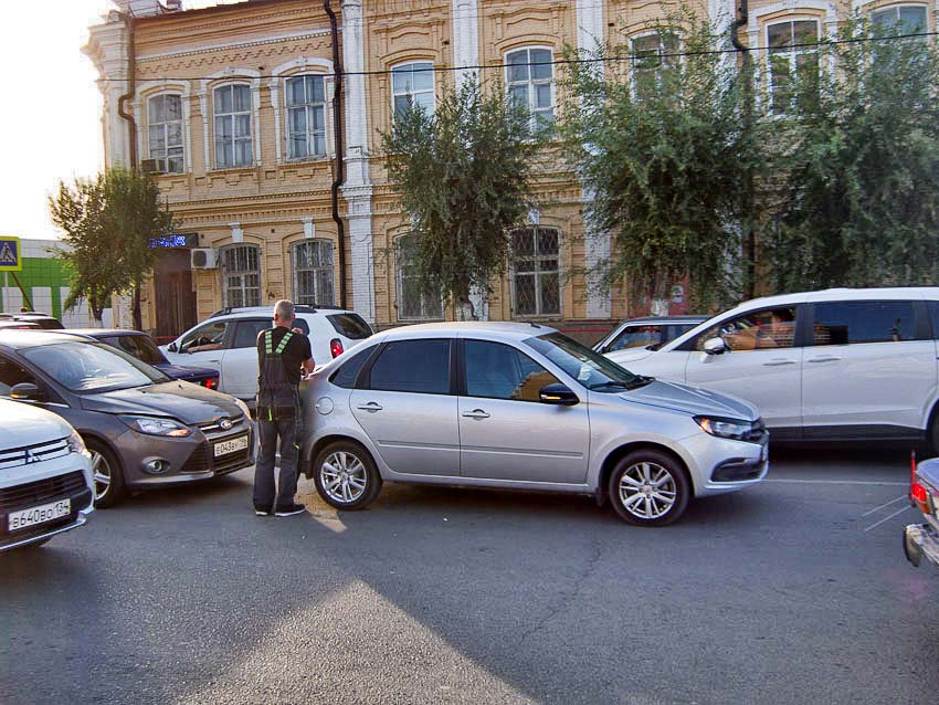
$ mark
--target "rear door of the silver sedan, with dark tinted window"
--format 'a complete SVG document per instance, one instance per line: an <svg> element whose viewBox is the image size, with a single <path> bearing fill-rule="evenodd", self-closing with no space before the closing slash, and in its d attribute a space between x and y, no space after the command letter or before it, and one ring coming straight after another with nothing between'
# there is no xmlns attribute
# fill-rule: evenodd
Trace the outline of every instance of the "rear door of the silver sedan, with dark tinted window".
<svg viewBox="0 0 939 705"><path fill-rule="evenodd" d="M460 475L456 397L449 339L395 340L378 354L352 414L397 473Z"/></svg>

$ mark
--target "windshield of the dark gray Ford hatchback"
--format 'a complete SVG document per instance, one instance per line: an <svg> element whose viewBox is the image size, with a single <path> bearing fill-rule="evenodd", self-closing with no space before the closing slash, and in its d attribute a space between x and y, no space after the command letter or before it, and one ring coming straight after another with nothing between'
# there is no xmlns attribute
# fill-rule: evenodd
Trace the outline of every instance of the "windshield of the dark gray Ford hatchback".
<svg viewBox="0 0 939 705"><path fill-rule="evenodd" d="M87 393L130 389L169 377L158 369L97 343L59 343L23 350L23 356L70 391Z"/></svg>

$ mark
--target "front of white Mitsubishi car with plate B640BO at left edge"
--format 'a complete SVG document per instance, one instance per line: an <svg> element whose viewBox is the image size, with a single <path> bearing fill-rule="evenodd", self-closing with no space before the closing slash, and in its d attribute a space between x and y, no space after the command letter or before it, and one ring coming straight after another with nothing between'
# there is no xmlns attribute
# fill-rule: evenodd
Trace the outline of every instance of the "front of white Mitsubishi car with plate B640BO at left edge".
<svg viewBox="0 0 939 705"><path fill-rule="evenodd" d="M40 546L94 511L92 460L61 417L0 399L0 551Z"/></svg>

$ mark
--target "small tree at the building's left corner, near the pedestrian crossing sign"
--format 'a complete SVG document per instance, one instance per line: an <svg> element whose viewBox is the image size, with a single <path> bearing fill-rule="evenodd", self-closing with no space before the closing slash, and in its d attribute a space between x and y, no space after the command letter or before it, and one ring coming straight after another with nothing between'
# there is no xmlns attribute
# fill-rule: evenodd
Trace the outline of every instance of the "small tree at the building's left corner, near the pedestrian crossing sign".
<svg viewBox="0 0 939 705"><path fill-rule="evenodd" d="M101 325L112 295L139 291L156 260L150 240L172 229L172 215L160 204L150 176L122 168L72 185L61 181L59 192L49 198L49 210L68 245L57 251L72 270L72 291L64 305L71 308L86 299ZM134 325L141 327L139 306Z"/></svg>

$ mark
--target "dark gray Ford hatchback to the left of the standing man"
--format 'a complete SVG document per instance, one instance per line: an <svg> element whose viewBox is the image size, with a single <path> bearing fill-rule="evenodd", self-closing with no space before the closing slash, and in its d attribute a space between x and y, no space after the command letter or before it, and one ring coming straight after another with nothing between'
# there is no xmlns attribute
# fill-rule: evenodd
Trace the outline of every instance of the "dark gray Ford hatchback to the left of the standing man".
<svg viewBox="0 0 939 705"><path fill-rule="evenodd" d="M128 490L208 480L254 462L243 402L87 338L0 330L0 397L53 411L81 433L99 507Z"/></svg>

